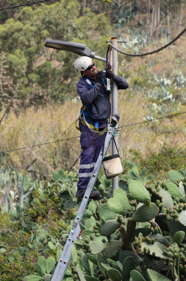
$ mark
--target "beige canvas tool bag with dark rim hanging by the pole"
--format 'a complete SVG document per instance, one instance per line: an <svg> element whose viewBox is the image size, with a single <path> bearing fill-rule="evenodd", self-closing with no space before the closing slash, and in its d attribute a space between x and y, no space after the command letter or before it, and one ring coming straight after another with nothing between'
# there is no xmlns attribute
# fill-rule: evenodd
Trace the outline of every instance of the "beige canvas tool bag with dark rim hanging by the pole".
<svg viewBox="0 0 186 281"><path fill-rule="evenodd" d="M112 136L112 139L114 140L115 146L117 148L116 142L114 137ZM103 143L103 149L104 149L104 143ZM102 155L103 155L103 149L102 149ZM118 149L117 149L118 152ZM107 179L112 179L113 177L116 177L117 175L121 174L123 172L123 168L121 165L121 160L118 154L113 154L107 157L102 158L103 168L105 170L105 175Z"/></svg>

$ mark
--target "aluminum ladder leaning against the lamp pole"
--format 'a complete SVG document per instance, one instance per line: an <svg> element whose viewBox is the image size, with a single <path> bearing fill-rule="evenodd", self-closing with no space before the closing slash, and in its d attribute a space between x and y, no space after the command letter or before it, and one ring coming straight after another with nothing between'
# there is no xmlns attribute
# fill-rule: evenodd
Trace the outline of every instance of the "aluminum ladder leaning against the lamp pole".
<svg viewBox="0 0 186 281"><path fill-rule="evenodd" d="M114 132L114 129L119 121L120 115L119 114L114 114L112 116L112 120L110 123L110 127L108 129L108 132L106 134L105 137L105 144L104 144L104 150L103 150L103 155L105 155L107 153L108 147L110 145L111 139L112 139L112 134ZM94 167L94 170L92 172L92 176L90 178L90 181L88 183L85 195L82 199L81 205L79 207L78 213L76 215L76 218L74 220L74 223L72 225L69 237L67 239L67 242L65 244L65 247L62 251L62 254L60 256L60 259L58 261L58 264L56 266L56 269L54 271L53 277L51 279L51 281L62 281L63 277L65 275L65 272L67 270L68 264L70 262L71 259L71 246L74 245L74 241L77 241L79 238L79 234L80 234L80 226L79 226L79 222L81 221L81 219L83 218L83 214L85 212L85 209L87 207L88 204L88 199L90 196L90 193L92 192L92 189L94 188L94 185L96 183L99 171L101 169L101 165L102 165L102 149L100 151L100 154L98 156L98 160L96 162L96 165Z"/></svg>

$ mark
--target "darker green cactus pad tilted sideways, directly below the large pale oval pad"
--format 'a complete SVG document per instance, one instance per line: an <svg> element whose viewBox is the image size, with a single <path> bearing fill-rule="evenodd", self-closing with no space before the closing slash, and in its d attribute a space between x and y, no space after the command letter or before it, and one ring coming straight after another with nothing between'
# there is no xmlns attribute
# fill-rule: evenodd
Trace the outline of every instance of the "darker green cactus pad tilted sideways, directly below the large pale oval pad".
<svg viewBox="0 0 186 281"><path fill-rule="evenodd" d="M158 212L159 212L159 208L158 206L156 206L155 203L151 203L150 205L144 204L135 211L131 220L137 222L146 222L155 218Z"/></svg>

